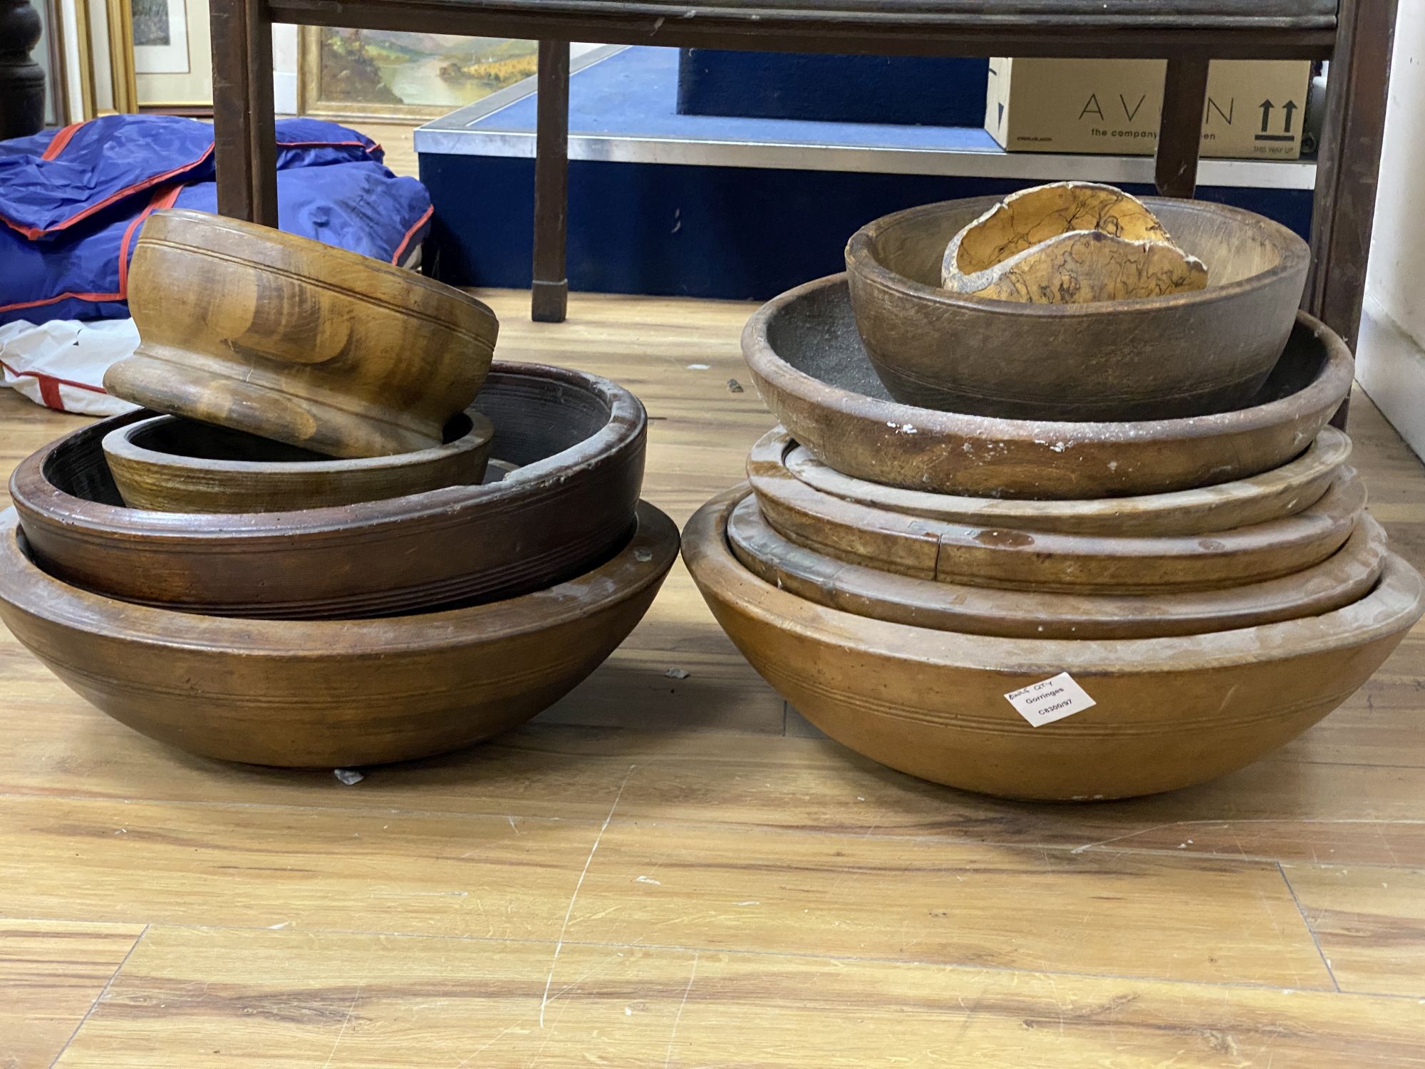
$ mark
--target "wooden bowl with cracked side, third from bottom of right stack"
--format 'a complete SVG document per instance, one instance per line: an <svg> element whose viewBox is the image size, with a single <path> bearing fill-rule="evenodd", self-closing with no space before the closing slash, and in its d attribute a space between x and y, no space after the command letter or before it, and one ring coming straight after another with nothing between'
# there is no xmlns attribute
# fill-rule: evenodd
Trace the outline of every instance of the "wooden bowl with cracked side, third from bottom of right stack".
<svg viewBox="0 0 1425 1069"><path fill-rule="evenodd" d="M1206 534L1062 534L966 526L858 505L808 486L765 435L747 477L767 522L798 546L884 572L1006 590L1151 594L1213 590L1291 574L1335 553L1365 507L1344 468L1307 509Z"/></svg>

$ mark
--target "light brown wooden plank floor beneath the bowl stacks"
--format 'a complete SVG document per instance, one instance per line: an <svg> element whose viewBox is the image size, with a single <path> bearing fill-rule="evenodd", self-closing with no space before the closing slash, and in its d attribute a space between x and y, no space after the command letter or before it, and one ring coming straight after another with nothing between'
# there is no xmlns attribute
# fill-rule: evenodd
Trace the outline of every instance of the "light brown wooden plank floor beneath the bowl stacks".
<svg viewBox="0 0 1425 1069"><path fill-rule="evenodd" d="M748 306L489 299L502 356L644 399L680 523L741 477ZM0 466L80 422L0 392ZM1421 465L1352 422L1425 564ZM526 728L346 787L151 743L4 634L0 1068L1425 1066L1422 676L1418 630L1218 783L999 802L821 737L678 566Z"/></svg>

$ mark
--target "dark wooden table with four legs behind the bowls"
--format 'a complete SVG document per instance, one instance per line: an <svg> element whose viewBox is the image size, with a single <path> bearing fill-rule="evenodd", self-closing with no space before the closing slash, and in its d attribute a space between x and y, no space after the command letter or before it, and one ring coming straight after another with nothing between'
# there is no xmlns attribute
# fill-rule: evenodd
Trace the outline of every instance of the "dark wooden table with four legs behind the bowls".
<svg viewBox="0 0 1425 1069"><path fill-rule="evenodd" d="M1210 58L1331 60L1304 305L1354 342L1396 0L211 0L218 204L276 221L272 23L540 40L534 315L563 318L570 40L919 56L1166 57L1157 185L1191 195ZM1349 147L1349 165L1342 151Z"/></svg>

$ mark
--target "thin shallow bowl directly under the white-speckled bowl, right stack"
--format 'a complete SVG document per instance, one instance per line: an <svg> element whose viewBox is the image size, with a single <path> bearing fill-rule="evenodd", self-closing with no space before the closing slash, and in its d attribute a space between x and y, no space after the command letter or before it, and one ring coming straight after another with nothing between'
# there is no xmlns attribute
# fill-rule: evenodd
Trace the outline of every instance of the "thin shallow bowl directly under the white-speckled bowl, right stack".
<svg viewBox="0 0 1425 1069"><path fill-rule="evenodd" d="M789 435L779 445L787 470L842 500L945 523L1064 534L1203 534L1294 516L1321 499L1351 458L1351 439L1328 426L1301 456L1247 479L1139 497L1035 502L881 486L828 468Z"/></svg>

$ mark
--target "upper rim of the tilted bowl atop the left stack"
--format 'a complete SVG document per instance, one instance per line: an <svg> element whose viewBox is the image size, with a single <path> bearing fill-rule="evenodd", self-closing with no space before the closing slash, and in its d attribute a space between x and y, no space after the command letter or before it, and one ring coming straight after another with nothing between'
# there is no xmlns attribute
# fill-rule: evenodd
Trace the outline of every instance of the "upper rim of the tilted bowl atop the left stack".
<svg viewBox="0 0 1425 1069"><path fill-rule="evenodd" d="M154 225L154 220L158 220L158 225ZM425 289L435 298L449 301L455 305L462 306L467 312L473 312L483 322L484 331L499 331L499 316L494 309L476 296L457 289L445 282L439 282L433 278L428 278L419 271L412 271L409 268L398 267L396 264L388 264L383 259L376 259L375 257L366 257L361 252L352 252L341 245L329 245L325 241L316 241L315 238L304 238L298 234L288 234L286 231L276 229L275 227L264 227L256 222L245 222L242 220L235 220L231 215L214 215L205 211L197 211L194 208L162 208L155 211L144 225L144 231L140 232L138 241L134 244L134 251L137 252L145 244L164 244L171 248L185 251L192 255L209 257L215 254L207 248L207 245L184 241L174 237L158 237L160 231L164 229L164 224L175 221L182 224L182 227L207 228L215 231L225 231L228 234L237 234L248 241L254 242L254 249L281 249L284 254L299 255L304 258L304 268L308 274L304 277L316 285L325 285L325 274L321 268L323 262L338 262L345 264L349 268L356 268L362 271L373 272L383 279L399 282L406 286L416 286ZM152 231L151 234L147 234ZM147 234L147 237L145 237ZM319 252L321 255L312 255ZM224 257L225 259L228 257ZM276 268L275 264L261 259L254 255L242 257L241 261L256 269L271 269ZM486 345L493 345L493 339L486 342Z"/></svg>

